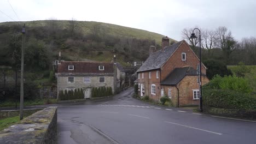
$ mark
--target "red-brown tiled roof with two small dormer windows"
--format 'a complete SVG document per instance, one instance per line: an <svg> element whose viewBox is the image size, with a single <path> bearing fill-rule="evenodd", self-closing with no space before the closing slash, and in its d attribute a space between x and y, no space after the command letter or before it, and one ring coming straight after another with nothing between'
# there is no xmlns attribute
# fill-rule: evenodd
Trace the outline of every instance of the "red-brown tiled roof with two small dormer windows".
<svg viewBox="0 0 256 144"><path fill-rule="evenodd" d="M74 65L74 70L68 70L68 65ZM103 65L104 70L98 66ZM63 61L58 65L58 73L87 73L87 74L109 74L114 73L113 63L110 62L72 62Z"/></svg>

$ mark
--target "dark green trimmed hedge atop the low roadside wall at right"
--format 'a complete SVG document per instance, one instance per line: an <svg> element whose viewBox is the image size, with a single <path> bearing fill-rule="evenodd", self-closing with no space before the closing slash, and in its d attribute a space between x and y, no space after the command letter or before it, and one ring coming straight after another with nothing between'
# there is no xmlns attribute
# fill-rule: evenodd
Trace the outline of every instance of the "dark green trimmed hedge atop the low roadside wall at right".
<svg viewBox="0 0 256 144"><path fill-rule="evenodd" d="M256 98L243 92L231 91L228 89L204 89L202 91L203 106L256 110Z"/></svg>

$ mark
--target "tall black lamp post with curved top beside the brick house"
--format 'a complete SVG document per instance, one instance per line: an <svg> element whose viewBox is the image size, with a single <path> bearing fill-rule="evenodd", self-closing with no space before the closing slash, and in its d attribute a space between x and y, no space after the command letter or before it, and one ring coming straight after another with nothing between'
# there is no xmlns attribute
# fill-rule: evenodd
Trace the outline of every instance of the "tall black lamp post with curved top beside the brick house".
<svg viewBox="0 0 256 144"><path fill-rule="evenodd" d="M195 29L199 31L199 59L200 59L200 64L199 64L199 73L200 73L200 79L199 79L199 86L200 86L200 97L199 97L199 111L202 112L202 62L201 62L201 31L199 28L194 28L193 33L190 36L190 39L196 39L196 35L194 33Z"/></svg>

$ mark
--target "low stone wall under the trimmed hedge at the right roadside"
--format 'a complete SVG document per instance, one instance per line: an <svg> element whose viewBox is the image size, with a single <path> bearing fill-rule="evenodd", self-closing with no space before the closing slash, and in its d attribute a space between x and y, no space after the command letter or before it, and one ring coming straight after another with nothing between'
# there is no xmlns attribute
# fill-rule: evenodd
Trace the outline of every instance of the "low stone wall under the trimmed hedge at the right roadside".
<svg viewBox="0 0 256 144"><path fill-rule="evenodd" d="M256 119L256 111L247 110L236 110L236 109L221 109L215 107L203 107L203 112L211 113L214 115L230 116L230 117L240 117Z"/></svg>

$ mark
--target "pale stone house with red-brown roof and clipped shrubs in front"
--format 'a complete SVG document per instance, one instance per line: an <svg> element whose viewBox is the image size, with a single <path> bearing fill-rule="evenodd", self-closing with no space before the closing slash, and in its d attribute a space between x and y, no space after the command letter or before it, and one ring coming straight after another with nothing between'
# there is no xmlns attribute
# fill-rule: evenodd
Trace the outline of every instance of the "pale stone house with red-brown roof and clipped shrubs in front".
<svg viewBox="0 0 256 144"><path fill-rule="evenodd" d="M57 67L57 98L61 90L83 88L84 97L91 97L92 87L112 87L115 90L114 63L61 61Z"/></svg>

